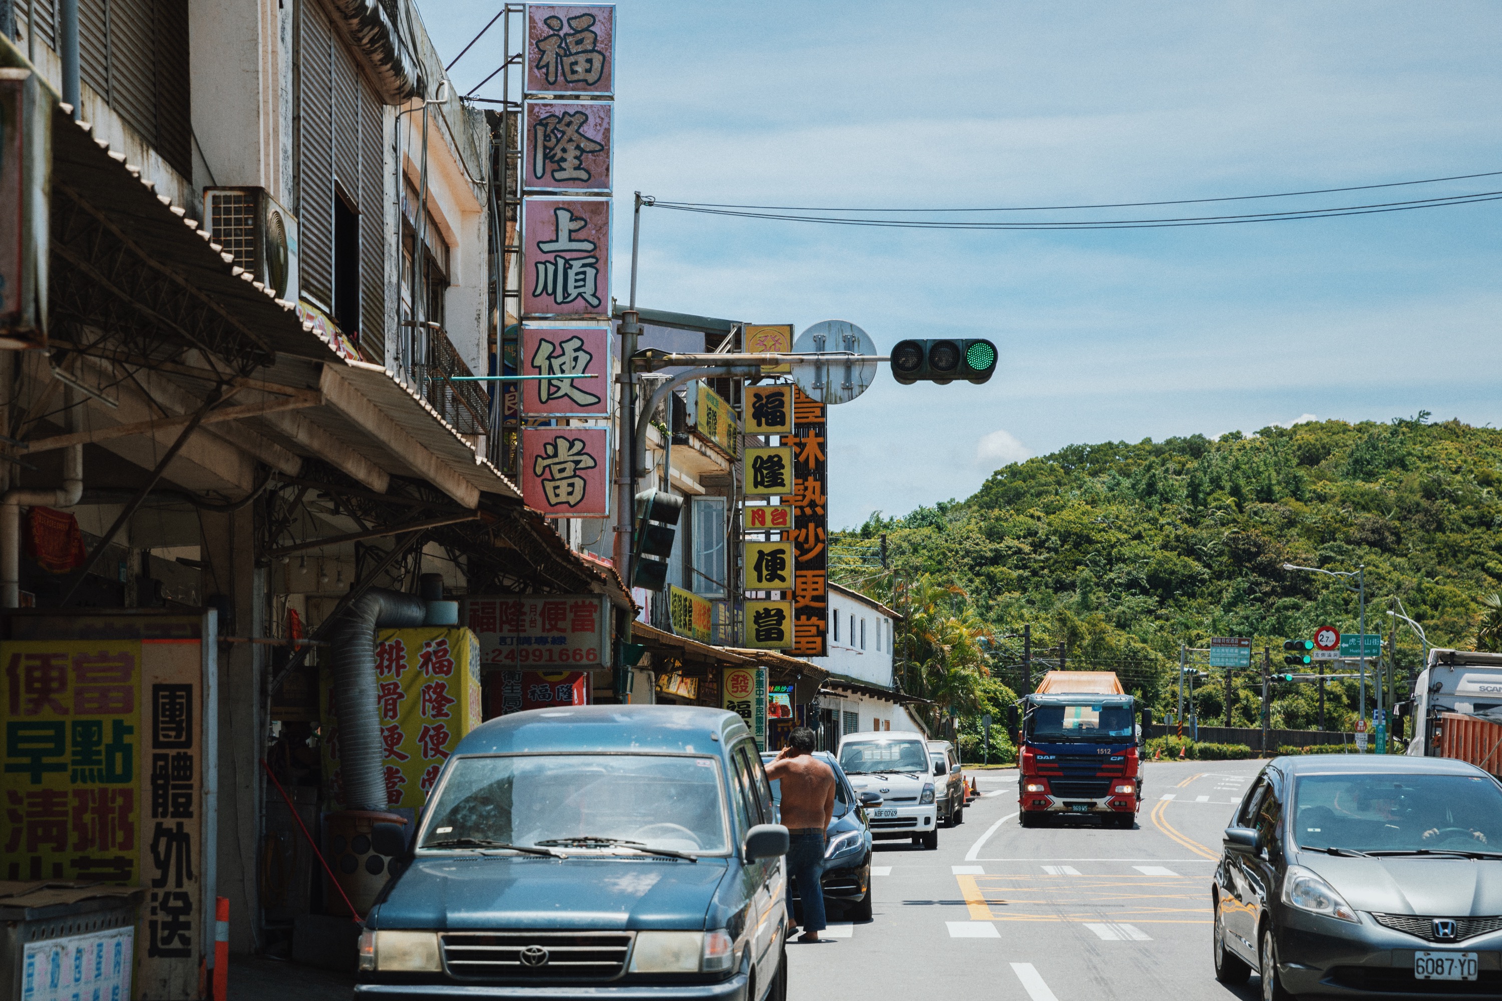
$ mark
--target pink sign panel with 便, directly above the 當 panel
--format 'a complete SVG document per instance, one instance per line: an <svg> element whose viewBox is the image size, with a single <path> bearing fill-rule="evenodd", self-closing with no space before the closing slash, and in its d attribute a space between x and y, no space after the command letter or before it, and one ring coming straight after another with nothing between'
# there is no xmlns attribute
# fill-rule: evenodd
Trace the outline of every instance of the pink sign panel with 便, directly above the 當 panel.
<svg viewBox="0 0 1502 1001"><path fill-rule="evenodd" d="M526 324L518 375L548 377L520 383L527 417L602 417L610 413L610 330Z"/></svg>

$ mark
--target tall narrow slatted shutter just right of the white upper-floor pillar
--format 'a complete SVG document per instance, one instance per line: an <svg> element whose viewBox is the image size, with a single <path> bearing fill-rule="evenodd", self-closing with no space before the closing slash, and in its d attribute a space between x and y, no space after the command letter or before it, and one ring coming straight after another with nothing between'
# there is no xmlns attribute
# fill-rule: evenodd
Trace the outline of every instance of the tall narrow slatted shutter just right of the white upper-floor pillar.
<svg viewBox="0 0 1502 1001"><path fill-rule="evenodd" d="M312 3L302 5L297 158L299 281L318 305L333 308L333 93L329 71L333 38Z"/></svg>

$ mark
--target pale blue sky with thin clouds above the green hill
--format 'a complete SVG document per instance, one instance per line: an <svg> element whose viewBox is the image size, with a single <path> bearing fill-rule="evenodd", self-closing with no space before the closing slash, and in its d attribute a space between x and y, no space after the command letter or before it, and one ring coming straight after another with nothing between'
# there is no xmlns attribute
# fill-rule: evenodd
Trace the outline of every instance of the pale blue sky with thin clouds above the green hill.
<svg viewBox="0 0 1502 1001"><path fill-rule="evenodd" d="M448 59L499 9L419 6ZM614 293L625 300L632 191L1057 206L1502 171L1499 35L1502 5L1458 0L622 0ZM497 26L452 68L454 84L464 93L500 63ZM478 96L499 98L500 78ZM1502 192L1502 177L1275 207L1482 191ZM1188 209L1169 212L1227 212ZM1071 443L1421 410L1502 425L1499 224L1502 201L1074 233L646 209L637 300L799 332L849 320L882 351L903 338L996 342L984 386L898 386L883 371L831 407L831 525L853 527L964 498L996 468Z"/></svg>

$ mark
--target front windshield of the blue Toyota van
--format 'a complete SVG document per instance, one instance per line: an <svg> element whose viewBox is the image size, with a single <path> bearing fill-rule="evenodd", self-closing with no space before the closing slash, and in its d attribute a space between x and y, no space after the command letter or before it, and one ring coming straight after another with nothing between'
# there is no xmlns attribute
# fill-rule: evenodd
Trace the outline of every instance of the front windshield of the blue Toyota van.
<svg viewBox="0 0 1502 1001"><path fill-rule="evenodd" d="M622 839L695 854L727 845L719 767L668 755L508 755L454 761L422 846Z"/></svg>

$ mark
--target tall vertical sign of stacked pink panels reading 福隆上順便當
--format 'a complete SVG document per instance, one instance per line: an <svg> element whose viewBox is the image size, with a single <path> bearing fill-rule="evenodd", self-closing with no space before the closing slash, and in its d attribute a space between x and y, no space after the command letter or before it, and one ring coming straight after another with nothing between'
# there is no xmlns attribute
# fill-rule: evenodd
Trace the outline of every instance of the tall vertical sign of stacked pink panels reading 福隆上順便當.
<svg viewBox="0 0 1502 1001"><path fill-rule="evenodd" d="M616 8L527 5L526 24L517 369L533 378L521 393L532 425L521 434L523 495L551 518L602 518L608 432L568 425L610 416ZM590 320L602 323L569 326Z"/></svg>

